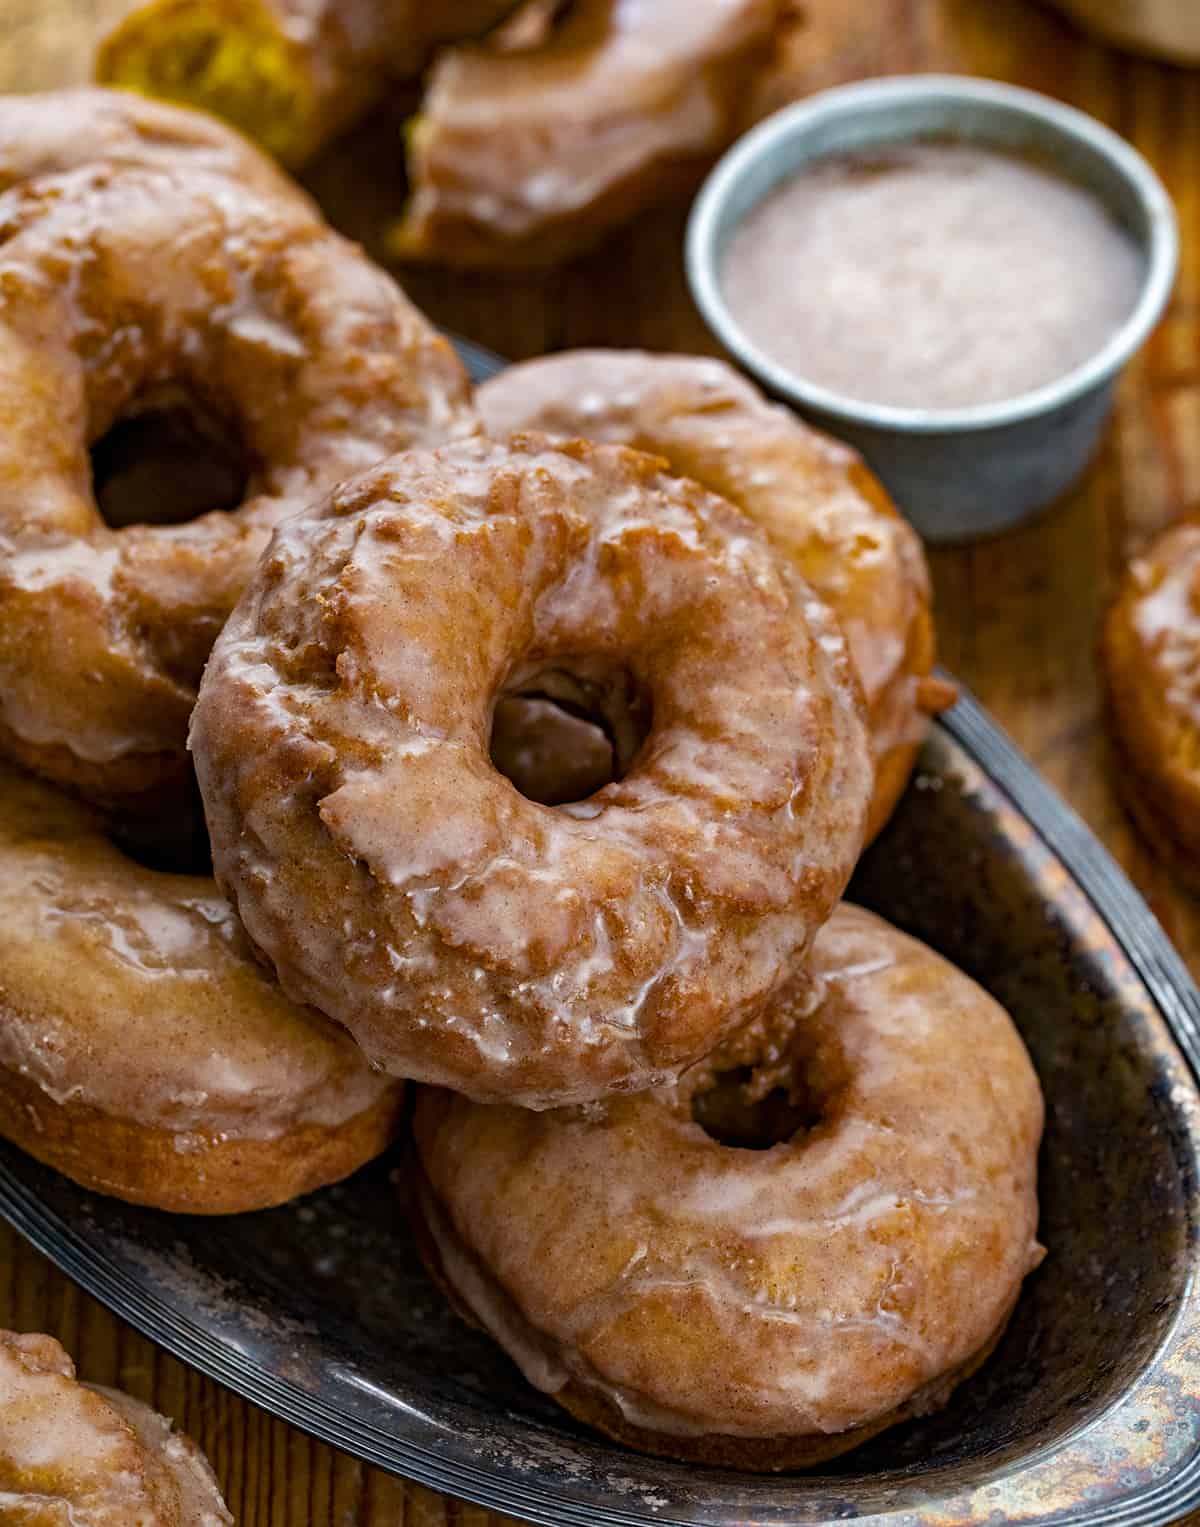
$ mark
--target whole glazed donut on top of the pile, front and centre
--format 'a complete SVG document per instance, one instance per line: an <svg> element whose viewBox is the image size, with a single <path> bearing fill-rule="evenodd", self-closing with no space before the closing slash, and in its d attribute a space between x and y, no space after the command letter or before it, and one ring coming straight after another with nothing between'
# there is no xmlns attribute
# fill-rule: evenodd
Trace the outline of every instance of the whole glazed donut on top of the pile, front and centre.
<svg viewBox="0 0 1200 1527"><path fill-rule="evenodd" d="M620 777L489 759L573 696ZM281 525L200 687L217 876L284 989L395 1075L544 1109L744 1023L837 902L870 759L832 617L640 452L408 452Z"/></svg>

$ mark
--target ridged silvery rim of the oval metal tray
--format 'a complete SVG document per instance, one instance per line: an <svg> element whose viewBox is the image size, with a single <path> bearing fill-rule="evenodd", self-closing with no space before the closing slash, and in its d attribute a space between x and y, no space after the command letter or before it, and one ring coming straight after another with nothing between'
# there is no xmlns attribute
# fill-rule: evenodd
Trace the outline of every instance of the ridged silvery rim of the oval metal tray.
<svg viewBox="0 0 1200 1527"><path fill-rule="evenodd" d="M453 337L476 376L489 374L504 365L499 357L482 351L478 345ZM1092 904L1157 1006L1200 1096L1200 989L1142 895L1104 844L969 692L960 687L959 702L942 715L936 725L1008 797ZM243 1399L311 1437L340 1448L351 1457L537 1527L559 1527L559 1524L644 1527L647 1521L655 1519L649 1509L626 1510L611 1504L563 1500L539 1481L505 1477L482 1463L470 1464L440 1457L437 1448L365 1426L285 1377L261 1371L232 1345L215 1344L208 1332L191 1318L182 1316L145 1284L131 1283L104 1254L89 1248L75 1226L60 1220L37 1202L32 1191L3 1162L0 1162L0 1215L61 1272L150 1341ZM1176 1330L1177 1322L1165 1344L1173 1341ZM1104 1419L1101 1416L1092 1425ZM1079 1432L1069 1434L1050 1448L1037 1451L1024 1467L1044 1464L1049 1457L1076 1443L1079 1435ZM1021 1464L1012 1472L1020 1469ZM1165 1478L1128 1496L1118 1495L1095 1506L1084 1504L1070 1509L1067 1515L1055 1513L1055 1519L1069 1521L1075 1527L1160 1527L1177 1521L1198 1504L1200 1440L1185 1463ZM895 1519L899 1522L907 1515L901 1507ZM1027 1521L1035 1519L1043 1518ZM685 1527L689 1518L672 1516L670 1521L675 1527ZM693 1521L699 1524L699 1518Z"/></svg>

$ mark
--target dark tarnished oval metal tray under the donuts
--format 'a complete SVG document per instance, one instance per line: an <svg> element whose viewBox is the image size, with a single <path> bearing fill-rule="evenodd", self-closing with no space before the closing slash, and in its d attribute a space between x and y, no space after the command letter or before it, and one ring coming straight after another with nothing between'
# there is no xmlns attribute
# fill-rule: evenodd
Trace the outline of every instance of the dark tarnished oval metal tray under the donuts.
<svg viewBox="0 0 1200 1527"><path fill-rule="evenodd" d="M485 362L479 362L484 370ZM1008 1006L1043 1081L1043 1267L937 1416L803 1475L576 1426L424 1278L403 1156L282 1209L168 1217L0 1147L0 1212L185 1362L368 1461L528 1521L1176 1521L1200 1504L1200 994L1082 823L969 698L852 896Z"/></svg>

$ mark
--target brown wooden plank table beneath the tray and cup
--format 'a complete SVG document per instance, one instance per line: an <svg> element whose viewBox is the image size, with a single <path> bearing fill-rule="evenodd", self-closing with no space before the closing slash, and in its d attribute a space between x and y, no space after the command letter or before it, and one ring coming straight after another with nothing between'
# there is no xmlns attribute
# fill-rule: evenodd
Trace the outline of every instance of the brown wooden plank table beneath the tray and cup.
<svg viewBox="0 0 1200 1527"><path fill-rule="evenodd" d="M87 78L110 0L0 0L0 92ZM1131 831L1108 779L1093 647L1124 559L1200 498L1200 72L1089 41L1034 0L811 0L777 98L864 75L1011 79L1101 118L1157 166L1183 224L1171 312L1131 366L1084 483L1027 528L931 556L942 657L1082 814L1200 976L1200 902ZM311 185L368 246L394 205L397 150L377 124ZM600 253L531 279L405 278L435 318L508 356L563 345L711 350L687 296L682 217L643 218ZM205 1448L241 1527L495 1527L501 1518L363 1467L191 1373L0 1228L0 1325L46 1330L82 1374L150 1400ZM1200 1519L1200 1518L1195 1518Z"/></svg>

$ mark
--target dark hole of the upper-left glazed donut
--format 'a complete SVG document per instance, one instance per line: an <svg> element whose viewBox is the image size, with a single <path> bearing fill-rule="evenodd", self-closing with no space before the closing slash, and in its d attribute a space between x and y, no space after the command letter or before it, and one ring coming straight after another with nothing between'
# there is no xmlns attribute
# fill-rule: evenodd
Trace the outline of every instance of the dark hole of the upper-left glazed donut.
<svg viewBox="0 0 1200 1527"><path fill-rule="evenodd" d="M226 420L179 388L139 399L95 441L92 492L104 522L180 525L237 508L249 457Z"/></svg>

